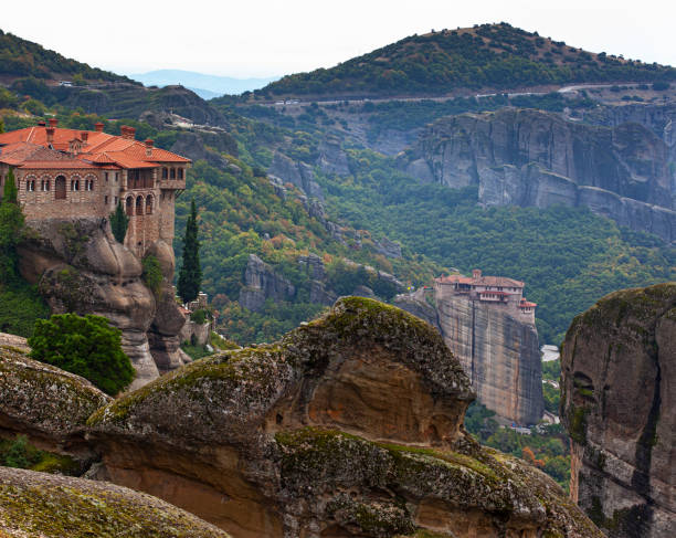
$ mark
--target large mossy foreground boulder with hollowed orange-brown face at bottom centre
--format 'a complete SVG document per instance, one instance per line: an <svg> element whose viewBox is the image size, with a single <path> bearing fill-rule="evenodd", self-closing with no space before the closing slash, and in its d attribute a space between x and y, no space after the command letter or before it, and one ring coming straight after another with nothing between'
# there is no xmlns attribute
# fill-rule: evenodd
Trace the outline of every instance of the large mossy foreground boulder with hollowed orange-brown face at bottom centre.
<svg viewBox="0 0 676 538"><path fill-rule="evenodd" d="M88 439L101 477L243 538L600 538L550 478L465 433L473 398L437 331L352 297L118 399Z"/></svg>

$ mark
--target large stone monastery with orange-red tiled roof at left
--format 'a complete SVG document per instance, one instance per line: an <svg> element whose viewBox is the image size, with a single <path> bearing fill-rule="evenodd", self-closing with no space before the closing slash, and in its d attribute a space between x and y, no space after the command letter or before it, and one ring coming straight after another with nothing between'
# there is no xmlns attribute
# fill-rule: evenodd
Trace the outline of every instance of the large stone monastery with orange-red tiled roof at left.
<svg viewBox="0 0 676 538"><path fill-rule="evenodd" d="M27 221L109 218L118 201L129 217L125 245L142 256L161 239L173 240L175 201L186 188L190 159L122 136L49 125L0 134L0 197L10 168Z"/></svg>

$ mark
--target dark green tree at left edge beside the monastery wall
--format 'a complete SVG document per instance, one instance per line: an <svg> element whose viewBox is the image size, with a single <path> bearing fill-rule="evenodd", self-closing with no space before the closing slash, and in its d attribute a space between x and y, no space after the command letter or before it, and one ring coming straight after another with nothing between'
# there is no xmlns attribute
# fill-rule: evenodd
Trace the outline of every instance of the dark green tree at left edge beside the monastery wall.
<svg viewBox="0 0 676 538"><path fill-rule="evenodd" d="M21 241L24 222L18 194L14 172L10 168L0 201L0 282L17 276L17 245Z"/></svg>

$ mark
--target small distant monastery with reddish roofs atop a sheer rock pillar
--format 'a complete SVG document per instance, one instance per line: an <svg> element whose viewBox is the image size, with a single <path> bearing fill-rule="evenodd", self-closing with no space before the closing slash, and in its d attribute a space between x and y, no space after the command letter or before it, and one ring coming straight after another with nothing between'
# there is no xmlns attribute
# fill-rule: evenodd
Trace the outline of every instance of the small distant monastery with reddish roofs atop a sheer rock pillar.
<svg viewBox="0 0 676 538"><path fill-rule="evenodd" d="M473 300L495 305L517 319L535 325L536 303L524 297L525 284L505 276L483 276L474 270L472 276L450 275L434 279L437 299L452 295L464 295Z"/></svg>

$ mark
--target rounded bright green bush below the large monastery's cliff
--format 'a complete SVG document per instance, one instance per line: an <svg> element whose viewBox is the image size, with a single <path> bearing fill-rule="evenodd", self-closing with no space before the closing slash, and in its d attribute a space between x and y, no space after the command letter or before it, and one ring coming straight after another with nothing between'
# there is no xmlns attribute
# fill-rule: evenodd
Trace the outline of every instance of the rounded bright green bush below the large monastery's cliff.
<svg viewBox="0 0 676 538"><path fill-rule="evenodd" d="M105 317L57 314L39 319L28 344L34 359L82 376L108 394L134 379L131 361L122 350L122 330Z"/></svg>

